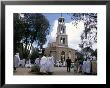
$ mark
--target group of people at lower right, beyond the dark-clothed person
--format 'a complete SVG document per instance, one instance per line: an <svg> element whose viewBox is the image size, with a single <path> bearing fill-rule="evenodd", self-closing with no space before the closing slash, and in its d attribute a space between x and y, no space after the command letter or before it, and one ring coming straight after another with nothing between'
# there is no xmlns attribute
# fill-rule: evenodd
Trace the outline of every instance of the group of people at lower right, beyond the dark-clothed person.
<svg viewBox="0 0 110 88"><path fill-rule="evenodd" d="M92 75L97 74L97 61L84 59L84 61L76 60L74 63L74 71L77 73Z"/></svg>

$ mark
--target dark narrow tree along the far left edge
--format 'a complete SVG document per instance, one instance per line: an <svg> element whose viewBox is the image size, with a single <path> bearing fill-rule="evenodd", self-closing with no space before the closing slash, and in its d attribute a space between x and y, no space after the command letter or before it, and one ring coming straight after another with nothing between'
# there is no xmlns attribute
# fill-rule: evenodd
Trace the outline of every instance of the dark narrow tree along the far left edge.
<svg viewBox="0 0 110 88"><path fill-rule="evenodd" d="M14 13L13 15L13 24L14 24L14 53L19 52L19 48L21 46L21 40L23 38L23 31L25 29L24 23L21 20L21 17L18 13Z"/></svg>

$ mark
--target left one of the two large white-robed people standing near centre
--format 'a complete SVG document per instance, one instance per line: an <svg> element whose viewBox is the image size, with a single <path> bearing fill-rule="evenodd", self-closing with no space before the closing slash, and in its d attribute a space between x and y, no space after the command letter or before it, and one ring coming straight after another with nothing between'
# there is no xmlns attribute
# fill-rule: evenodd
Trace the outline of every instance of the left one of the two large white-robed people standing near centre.
<svg viewBox="0 0 110 88"><path fill-rule="evenodd" d="M47 58L46 56L44 55L41 60L40 60L40 72L41 73L46 73L46 66L47 65Z"/></svg>

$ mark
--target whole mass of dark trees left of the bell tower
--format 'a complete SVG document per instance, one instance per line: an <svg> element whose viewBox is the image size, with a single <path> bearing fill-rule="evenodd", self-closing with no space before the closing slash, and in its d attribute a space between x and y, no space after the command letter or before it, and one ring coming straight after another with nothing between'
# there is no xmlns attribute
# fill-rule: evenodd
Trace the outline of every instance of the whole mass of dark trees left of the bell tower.
<svg viewBox="0 0 110 88"><path fill-rule="evenodd" d="M22 15L23 17L21 14L14 14L14 50L22 48L22 53L27 53L23 56L27 58L28 45L31 44L32 47L32 44L36 42L36 45L42 49L47 40L46 36L49 34L49 22L40 13L22 13Z"/></svg>

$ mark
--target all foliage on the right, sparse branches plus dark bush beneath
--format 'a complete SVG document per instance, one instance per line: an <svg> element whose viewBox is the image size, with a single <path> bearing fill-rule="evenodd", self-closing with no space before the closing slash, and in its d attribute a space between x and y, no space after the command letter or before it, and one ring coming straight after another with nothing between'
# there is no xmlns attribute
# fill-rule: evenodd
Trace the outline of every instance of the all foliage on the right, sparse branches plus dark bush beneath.
<svg viewBox="0 0 110 88"><path fill-rule="evenodd" d="M79 44L82 54L86 57L97 57L97 50L92 49L93 45L97 43L97 13L72 13L70 15L74 20L74 26L77 26L78 22L84 23L85 29L80 35L81 43Z"/></svg>

